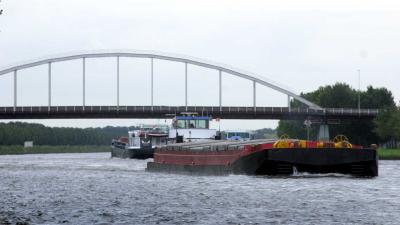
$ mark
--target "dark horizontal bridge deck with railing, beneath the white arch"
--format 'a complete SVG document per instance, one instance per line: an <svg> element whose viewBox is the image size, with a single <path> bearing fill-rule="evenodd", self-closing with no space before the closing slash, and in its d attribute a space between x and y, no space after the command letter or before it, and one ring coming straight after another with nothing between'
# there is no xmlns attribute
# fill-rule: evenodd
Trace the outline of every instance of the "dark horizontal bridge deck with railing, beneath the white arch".
<svg viewBox="0 0 400 225"><path fill-rule="evenodd" d="M182 112L221 119L373 119L377 109L219 106L18 106L0 107L0 119L172 118Z"/></svg>

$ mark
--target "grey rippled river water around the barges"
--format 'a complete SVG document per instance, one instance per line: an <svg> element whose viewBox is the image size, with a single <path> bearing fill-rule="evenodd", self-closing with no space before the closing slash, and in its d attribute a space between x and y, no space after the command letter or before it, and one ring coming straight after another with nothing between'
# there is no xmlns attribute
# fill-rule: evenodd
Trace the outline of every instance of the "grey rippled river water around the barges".
<svg viewBox="0 0 400 225"><path fill-rule="evenodd" d="M400 224L400 161L380 176L188 176L109 153L0 156L0 224Z"/></svg>

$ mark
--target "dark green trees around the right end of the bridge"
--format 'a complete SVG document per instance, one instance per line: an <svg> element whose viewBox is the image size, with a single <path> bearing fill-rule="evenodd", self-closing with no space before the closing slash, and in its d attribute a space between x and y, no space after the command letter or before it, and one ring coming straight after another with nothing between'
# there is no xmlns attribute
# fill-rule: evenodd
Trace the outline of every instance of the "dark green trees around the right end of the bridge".
<svg viewBox="0 0 400 225"><path fill-rule="evenodd" d="M381 109L375 120L341 120L338 124L329 124L331 138L338 134L346 135L352 143L368 146L385 143L390 139L399 139L400 117L391 91L386 88L368 86L366 91L357 91L345 83L336 83L320 87L318 90L301 93L307 100L325 108L357 108L360 97L361 108ZM297 100L291 101L292 107L302 107ZM395 116L397 115L397 116ZM310 128L310 139L316 140L318 123ZM304 121L281 120L277 128L278 136L287 134L293 138L307 139Z"/></svg>

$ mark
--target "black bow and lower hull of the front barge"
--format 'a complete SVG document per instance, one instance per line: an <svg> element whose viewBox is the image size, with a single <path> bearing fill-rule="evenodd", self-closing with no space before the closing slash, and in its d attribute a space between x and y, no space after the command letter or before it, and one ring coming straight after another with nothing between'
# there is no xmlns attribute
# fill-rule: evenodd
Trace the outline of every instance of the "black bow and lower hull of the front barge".
<svg viewBox="0 0 400 225"><path fill-rule="evenodd" d="M229 166L149 162L147 170L205 175L292 175L297 171L375 177L378 176L378 158L373 149L270 149L244 156Z"/></svg>

